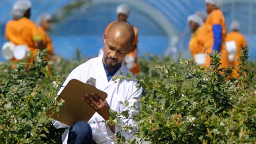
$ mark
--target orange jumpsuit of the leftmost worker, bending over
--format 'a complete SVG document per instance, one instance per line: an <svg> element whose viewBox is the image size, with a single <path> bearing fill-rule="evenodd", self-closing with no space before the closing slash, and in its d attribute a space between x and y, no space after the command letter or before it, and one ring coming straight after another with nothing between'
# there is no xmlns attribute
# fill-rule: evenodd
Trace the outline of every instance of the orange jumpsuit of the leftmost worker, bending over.
<svg viewBox="0 0 256 144"><path fill-rule="evenodd" d="M9 21L5 27L5 37L15 45L27 45L33 57L37 55L36 41L43 40L36 24L26 17Z"/></svg>

